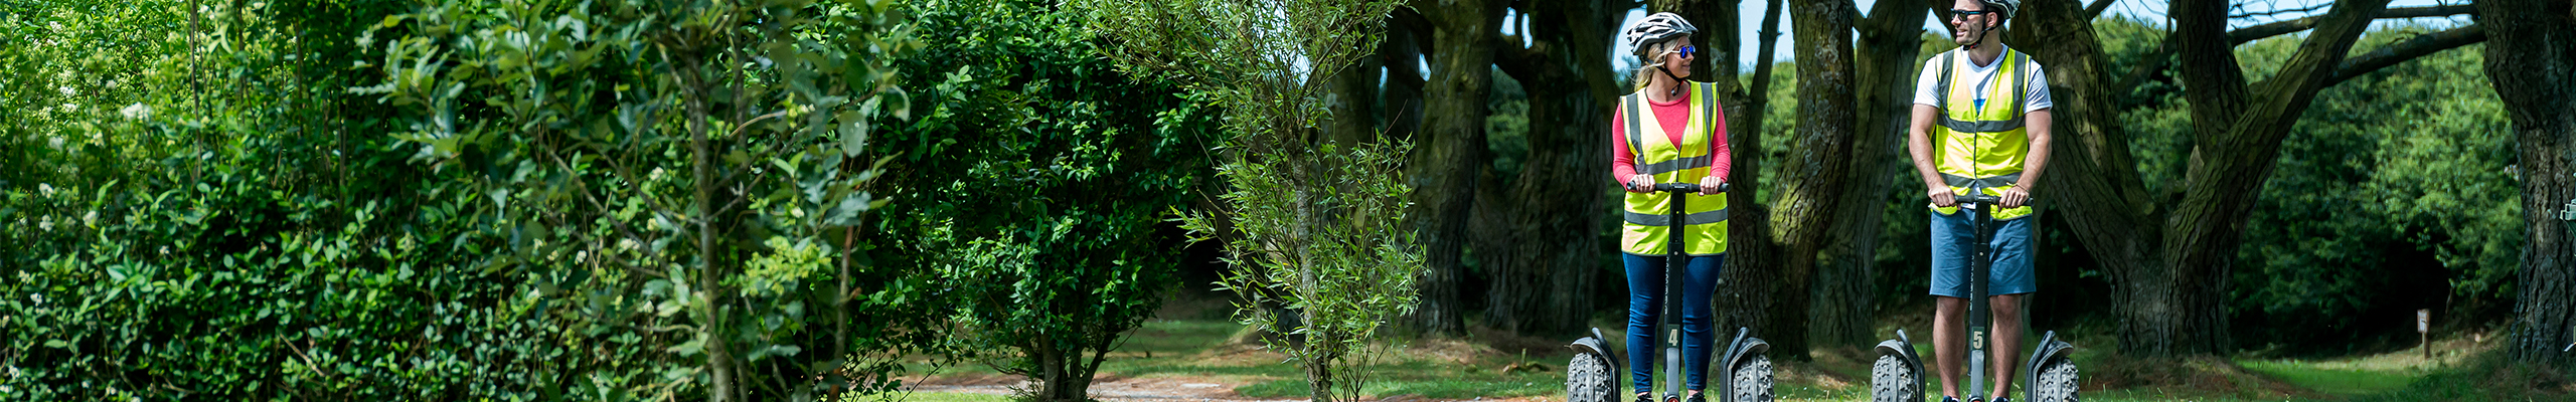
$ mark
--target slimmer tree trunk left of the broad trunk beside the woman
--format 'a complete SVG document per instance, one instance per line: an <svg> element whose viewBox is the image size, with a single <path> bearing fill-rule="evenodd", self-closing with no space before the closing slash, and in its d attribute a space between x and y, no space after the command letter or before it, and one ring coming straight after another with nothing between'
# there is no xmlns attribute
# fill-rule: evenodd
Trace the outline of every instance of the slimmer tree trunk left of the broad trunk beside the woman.
<svg viewBox="0 0 2576 402"><path fill-rule="evenodd" d="M1425 335L1463 335L1458 250L1466 245L1466 219L1476 204L1476 175L1492 165L1484 144L1486 95L1494 75L1494 36L1502 28L1502 3L1458 0L1417 5L1432 23L1432 77L1425 90L1422 131L1406 160L1414 186L1414 211L1406 214L1422 250L1422 307L1414 325Z"/></svg>

